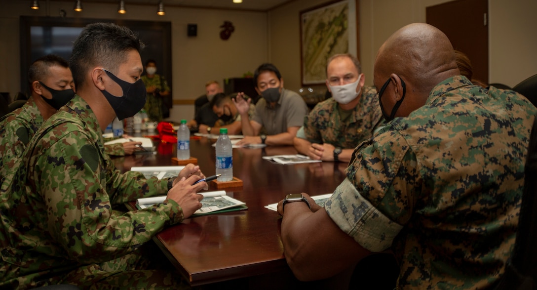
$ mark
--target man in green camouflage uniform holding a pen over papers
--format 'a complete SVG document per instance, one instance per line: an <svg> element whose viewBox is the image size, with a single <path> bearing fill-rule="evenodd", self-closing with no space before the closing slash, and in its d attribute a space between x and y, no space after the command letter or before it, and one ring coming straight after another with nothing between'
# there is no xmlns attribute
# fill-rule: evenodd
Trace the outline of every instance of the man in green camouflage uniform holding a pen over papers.
<svg viewBox="0 0 537 290"><path fill-rule="evenodd" d="M201 207L197 192L207 184L192 185L203 176L199 167L145 179L121 174L103 152L106 126L145 102L141 46L132 31L104 23L88 25L75 41L77 95L35 133L14 168L16 182L0 193L0 288L185 286L172 269L150 270L142 244ZM120 211L127 201L166 192L163 204Z"/></svg>

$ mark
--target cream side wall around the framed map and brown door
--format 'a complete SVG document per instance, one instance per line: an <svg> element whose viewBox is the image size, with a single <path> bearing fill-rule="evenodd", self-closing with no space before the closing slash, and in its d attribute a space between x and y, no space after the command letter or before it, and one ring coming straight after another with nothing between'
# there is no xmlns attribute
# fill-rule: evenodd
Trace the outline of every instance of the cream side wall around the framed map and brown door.
<svg viewBox="0 0 537 290"><path fill-rule="evenodd" d="M269 14L270 61L282 71L285 86L301 88L300 11L330 1L296 0ZM396 30L426 21L426 7L448 0L358 0L360 55L366 84L373 84L373 64L382 43ZM489 0L489 81L514 86L537 74L537 1Z"/></svg>

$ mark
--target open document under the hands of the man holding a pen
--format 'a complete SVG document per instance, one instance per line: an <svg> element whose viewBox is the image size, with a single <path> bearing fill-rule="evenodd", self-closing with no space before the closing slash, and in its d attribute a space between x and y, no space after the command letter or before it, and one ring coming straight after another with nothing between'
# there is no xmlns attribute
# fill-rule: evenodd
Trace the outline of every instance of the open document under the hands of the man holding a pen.
<svg viewBox="0 0 537 290"><path fill-rule="evenodd" d="M204 196L201 200L202 207L195 211L192 216L248 209L244 202L228 197L226 191L223 190L199 192L199 194ZM161 204L165 199L166 196L139 198L136 200L136 207L140 209L151 207L155 204Z"/></svg>

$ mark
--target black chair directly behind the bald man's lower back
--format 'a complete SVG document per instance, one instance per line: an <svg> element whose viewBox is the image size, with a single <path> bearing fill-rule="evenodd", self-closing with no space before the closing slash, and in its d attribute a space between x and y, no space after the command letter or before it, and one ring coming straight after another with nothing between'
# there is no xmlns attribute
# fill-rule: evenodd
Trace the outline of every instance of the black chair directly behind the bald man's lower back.
<svg viewBox="0 0 537 290"><path fill-rule="evenodd" d="M537 118L533 122L524 170L524 193L518 218L517 240L496 290L537 289Z"/></svg>

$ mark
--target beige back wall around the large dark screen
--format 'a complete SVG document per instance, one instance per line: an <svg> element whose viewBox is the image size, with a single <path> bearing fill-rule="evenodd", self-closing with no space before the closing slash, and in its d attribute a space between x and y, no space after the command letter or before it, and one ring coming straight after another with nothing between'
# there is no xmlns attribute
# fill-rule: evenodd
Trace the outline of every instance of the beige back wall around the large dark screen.
<svg viewBox="0 0 537 290"><path fill-rule="evenodd" d="M193 118L194 107L188 103L205 93L207 81L216 79L222 84L224 78L241 77L268 60L266 12L166 7L165 16L157 16L156 4L127 2L126 14L119 14L115 3L83 2L82 12L73 11L73 1L40 4L40 10L31 10L30 1L10 1L0 10L0 91L8 91L11 96L20 88L19 16L59 17L60 9L74 18L171 21L171 87L176 103L172 120ZM229 40L220 39L220 26L225 20L235 26ZM197 37L187 37L189 23L198 25Z"/></svg>

